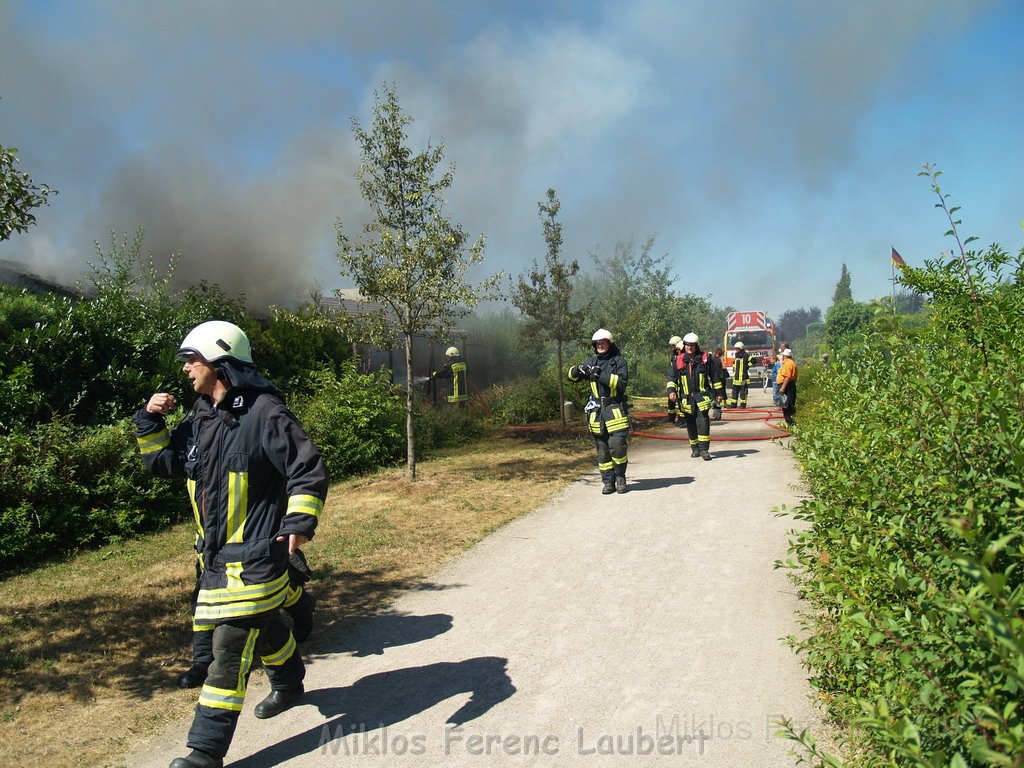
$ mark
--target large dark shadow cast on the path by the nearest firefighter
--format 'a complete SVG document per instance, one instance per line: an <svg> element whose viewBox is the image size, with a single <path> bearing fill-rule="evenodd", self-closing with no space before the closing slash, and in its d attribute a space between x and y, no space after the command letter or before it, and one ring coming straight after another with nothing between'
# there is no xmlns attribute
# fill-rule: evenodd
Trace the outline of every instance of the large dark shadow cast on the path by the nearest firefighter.
<svg viewBox="0 0 1024 768"><path fill-rule="evenodd" d="M325 755L328 751L344 754L343 748L332 746L331 742L352 733L372 732L400 723L446 698L472 693L445 721L462 725L515 693L507 666L507 658L479 656L381 672L347 687L309 691L298 706L313 705L323 716L333 720L231 762L231 766L266 768L322 749Z"/></svg>

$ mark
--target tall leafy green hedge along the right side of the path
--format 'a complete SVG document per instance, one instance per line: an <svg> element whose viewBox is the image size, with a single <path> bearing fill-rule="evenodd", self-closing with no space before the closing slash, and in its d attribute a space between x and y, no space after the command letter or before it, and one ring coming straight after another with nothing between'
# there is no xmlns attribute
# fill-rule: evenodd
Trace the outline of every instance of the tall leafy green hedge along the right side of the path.
<svg viewBox="0 0 1024 768"><path fill-rule="evenodd" d="M928 324L880 314L801 391L818 400L796 443L813 498L787 564L812 608L791 642L849 727L845 765L1024 759L1022 270L996 246L904 269Z"/></svg>

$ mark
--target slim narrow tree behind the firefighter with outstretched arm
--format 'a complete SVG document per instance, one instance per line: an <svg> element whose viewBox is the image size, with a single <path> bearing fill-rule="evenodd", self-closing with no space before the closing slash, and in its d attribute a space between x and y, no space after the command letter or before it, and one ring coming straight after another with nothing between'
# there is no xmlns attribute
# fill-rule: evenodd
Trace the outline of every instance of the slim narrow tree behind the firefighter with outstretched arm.
<svg viewBox="0 0 1024 768"><path fill-rule="evenodd" d="M519 275L519 285L513 290L512 303L528 318L523 329L527 338L547 342L555 342L558 367L555 376L558 378L558 411L561 414L562 426L565 426L564 375L562 373L562 347L566 341L580 336L583 325L584 310L570 309L572 298L572 279L580 271L580 262L575 259L566 263L562 260L562 225L558 221L558 211L562 204L554 189L548 189L548 202L538 203L541 215L541 226L544 231L544 242L548 245L545 265L542 268L534 260L534 267L528 275Z"/></svg>

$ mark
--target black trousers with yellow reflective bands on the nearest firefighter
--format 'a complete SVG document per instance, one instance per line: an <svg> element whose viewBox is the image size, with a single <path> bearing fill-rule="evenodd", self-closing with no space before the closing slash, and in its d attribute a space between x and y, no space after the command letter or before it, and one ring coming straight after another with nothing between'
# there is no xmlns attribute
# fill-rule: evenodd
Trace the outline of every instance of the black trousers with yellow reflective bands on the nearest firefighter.
<svg viewBox="0 0 1024 768"><path fill-rule="evenodd" d="M189 749L214 758L227 754L257 654L274 690L293 688L306 675L280 610L218 624L213 630L213 663L188 731Z"/></svg>

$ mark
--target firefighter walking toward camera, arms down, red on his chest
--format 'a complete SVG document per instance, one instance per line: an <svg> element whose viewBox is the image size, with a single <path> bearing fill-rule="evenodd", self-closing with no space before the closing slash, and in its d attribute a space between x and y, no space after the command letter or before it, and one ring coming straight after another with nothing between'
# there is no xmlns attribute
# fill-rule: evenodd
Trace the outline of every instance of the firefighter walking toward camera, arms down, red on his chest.
<svg viewBox="0 0 1024 768"><path fill-rule="evenodd" d="M669 399L679 409L679 418L686 422L690 438L690 457L711 461L712 403L721 400L723 384L716 379L715 361L708 352L700 351L700 340L694 333L683 337L683 352L676 358L675 368L669 369Z"/></svg>

